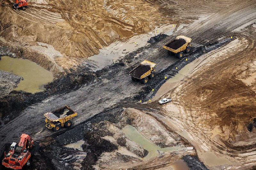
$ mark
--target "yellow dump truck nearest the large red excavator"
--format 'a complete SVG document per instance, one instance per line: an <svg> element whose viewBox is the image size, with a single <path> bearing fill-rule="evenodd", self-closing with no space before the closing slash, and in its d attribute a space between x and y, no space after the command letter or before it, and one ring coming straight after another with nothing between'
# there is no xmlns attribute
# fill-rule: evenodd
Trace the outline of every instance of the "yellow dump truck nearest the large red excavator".
<svg viewBox="0 0 256 170"><path fill-rule="evenodd" d="M66 105L53 112L44 113L45 126L48 129L53 129L55 132L63 127L69 128L72 125L71 119L76 115L77 113Z"/></svg>

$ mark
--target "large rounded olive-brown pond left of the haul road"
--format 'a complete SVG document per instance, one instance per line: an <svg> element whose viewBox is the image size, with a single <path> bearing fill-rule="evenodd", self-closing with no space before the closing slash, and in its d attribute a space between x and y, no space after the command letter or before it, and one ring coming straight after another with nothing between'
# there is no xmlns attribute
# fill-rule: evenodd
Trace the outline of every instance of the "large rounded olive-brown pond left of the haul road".
<svg viewBox="0 0 256 170"><path fill-rule="evenodd" d="M44 91L43 85L53 80L51 72L28 59L3 56L0 60L0 70L23 77L14 90L36 93Z"/></svg>

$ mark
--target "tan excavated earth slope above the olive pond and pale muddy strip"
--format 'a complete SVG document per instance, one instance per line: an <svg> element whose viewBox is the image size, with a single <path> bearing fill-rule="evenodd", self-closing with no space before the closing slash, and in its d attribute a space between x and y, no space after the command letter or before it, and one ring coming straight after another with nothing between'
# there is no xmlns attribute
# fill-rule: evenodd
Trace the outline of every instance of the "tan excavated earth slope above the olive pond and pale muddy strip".
<svg viewBox="0 0 256 170"><path fill-rule="evenodd" d="M0 6L2 43L12 50L19 49L21 56L48 69L55 77L116 40L181 20L166 17L175 14L168 4L159 6L157 2L143 0L31 0L25 11L13 10L11 0L3 3L6 5Z"/></svg>

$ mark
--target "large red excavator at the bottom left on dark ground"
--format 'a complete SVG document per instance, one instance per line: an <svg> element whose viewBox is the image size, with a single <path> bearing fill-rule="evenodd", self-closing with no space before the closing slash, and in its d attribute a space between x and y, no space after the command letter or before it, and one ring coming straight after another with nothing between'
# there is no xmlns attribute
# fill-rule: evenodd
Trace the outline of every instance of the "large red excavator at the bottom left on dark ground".
<svg viewBox="0 0 256 170"><path fill-rule="evenodd" d="M7 168L21 169L26 163L30 165L28 159L31 157L28 149L31 149L34 145L34 140L26 134L20 136L20 143L13 142L11 144L8 154L4 152L4 159L2 164Z"/></svg>

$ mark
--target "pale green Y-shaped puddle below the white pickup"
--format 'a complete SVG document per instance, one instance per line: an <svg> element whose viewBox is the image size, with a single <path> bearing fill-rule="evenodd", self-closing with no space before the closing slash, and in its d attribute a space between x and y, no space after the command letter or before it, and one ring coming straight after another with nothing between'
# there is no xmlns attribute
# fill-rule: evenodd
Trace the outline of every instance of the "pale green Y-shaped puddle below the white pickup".
<svg viewBox="0 0 256 170"><path fill-rule="evenodd" d="M144 136L142 136L140 134L140 132L138 132L136 130L136 128L134 128L131 125L125 126L122 131L124 132L124 134L133 142L139 144L142 148L144 148L145 150L148 151L148 155L146 157L144 157L143 159L148 160L152 157L156 157L161 153L164 152L171 152L171 151L177 151L177 150L181 150L184 149L181 146L173 146L173 147L167 147L167 148L160 148L159 146L151 143L148 141L148 139L146 139Z"/></svg>

